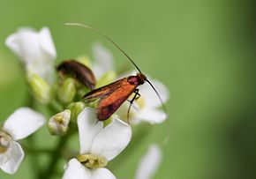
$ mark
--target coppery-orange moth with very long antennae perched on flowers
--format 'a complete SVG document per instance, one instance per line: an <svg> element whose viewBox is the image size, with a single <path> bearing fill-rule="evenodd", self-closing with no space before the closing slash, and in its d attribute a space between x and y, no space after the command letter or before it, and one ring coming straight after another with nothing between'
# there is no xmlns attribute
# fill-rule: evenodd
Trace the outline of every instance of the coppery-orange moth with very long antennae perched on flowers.
<svg viewBox="0 0 256 179"><path fill-rule="evenodd" d="M137 88L140 85L143 85L145 81L153 88L154 92L158 96L159 100L162 103L162 108L165 113L166 109L164 108L162 98L159 93L157 93L156 89L152 85L152 83L147 79L147 77L139 70L139 67L136 63L132 61L132 58L128 56L122 48L120 48L116 42L112 41L108 36L102 34L100 31L94 29L91 26L79 24L79 23L66 23L67 26L81 26L85 27L96 34L101 35L103 38L110 41L116 48L118 48L124 56L126 56L130 62L135 66L135 68L139 71L136 76L129 76L126 78L121 78L107 86L102 86L98 89L94 89L93 91L84 95L83 99L85 101L98 101L98 106L96 108L96 116L100 121L104 121L109 118L116 110L119 108L124 101L126 101L132 93L135 93L132 100L130 101L130 106L127 111L127 120L129 121L129 111L132 106L132 102L134 100L139 99L139 89Z"/></svg>

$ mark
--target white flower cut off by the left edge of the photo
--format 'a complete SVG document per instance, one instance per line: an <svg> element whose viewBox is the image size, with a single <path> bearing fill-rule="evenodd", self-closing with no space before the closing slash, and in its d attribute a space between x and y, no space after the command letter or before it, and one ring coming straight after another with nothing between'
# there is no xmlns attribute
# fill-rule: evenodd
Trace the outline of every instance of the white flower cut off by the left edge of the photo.
<svg viewBox="0 0 256 179"><path fill-rule="evenodd" d="M24 158L24 151L16 142L37 131L45 123L41 114L31 108L17 109L0 129L0 168L14 174Z"/></svg>

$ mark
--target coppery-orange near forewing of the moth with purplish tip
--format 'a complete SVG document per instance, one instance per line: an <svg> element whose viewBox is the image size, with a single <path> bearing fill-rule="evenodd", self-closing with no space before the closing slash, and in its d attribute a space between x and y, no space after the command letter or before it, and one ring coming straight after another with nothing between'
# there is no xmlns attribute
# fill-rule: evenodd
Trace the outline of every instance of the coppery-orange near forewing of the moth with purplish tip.
<svg viewBox="0 0 256 179"><path fill-rule="evenodd" d="M123 80L121 86L99 101L96 112L97 118L101 121L109 118L129 98L136 87L137 85L131 84L127 79Z"/></svg>

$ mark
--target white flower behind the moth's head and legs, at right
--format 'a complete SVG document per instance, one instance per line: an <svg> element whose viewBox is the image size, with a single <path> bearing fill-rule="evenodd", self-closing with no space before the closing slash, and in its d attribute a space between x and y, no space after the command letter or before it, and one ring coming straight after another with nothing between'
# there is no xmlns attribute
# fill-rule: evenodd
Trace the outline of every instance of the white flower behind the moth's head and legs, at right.
<svg viewBox="0 0 256 179"><path fill-rule="evenodd" d="M122 75L121 77L128 77L131 74L136 74L136 72L129 72L127 74ZM169 90L166 86L162 84L161 81L157 79L148 78L147 79L152 83L157 93L162 98L162 102L165 103L169 99ZM157 94L154 92L154 89L147 84L147 81L141 86L138 86L140 97L138 100L132 102L132 108L129 113L129 122L131 123L140 123L142 121L147 123L162 123L166 118L167 114L160 109L162 107L162 103L158 98ZM129 100L132 100L131 95ZM127 118L127 111L130 106L130 102L126 101L121 106L119 110L117 110L117 114L124 118Z"/></svg>

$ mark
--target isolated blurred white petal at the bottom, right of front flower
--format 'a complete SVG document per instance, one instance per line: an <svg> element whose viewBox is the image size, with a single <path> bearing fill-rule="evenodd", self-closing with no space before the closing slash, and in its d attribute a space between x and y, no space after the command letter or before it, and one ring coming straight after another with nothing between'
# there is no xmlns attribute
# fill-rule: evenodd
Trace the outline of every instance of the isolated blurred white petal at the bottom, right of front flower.
<svg viewBox="0 0 256 179"><path fill-rule="evenodd" d="M150 179L159 168L162 151L158 145L150 145L147 153L139 161L135 179Z"/></svg>

